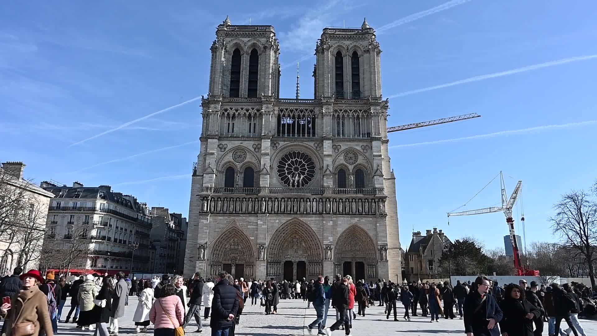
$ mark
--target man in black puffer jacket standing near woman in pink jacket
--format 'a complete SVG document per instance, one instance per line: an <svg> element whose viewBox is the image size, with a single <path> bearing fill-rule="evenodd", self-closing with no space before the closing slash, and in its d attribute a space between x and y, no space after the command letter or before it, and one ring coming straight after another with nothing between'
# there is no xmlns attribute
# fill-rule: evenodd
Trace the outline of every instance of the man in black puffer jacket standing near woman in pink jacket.
<svg viewBox="0 0 597 336"><path fill-rule="evenodd" d="M214 298L211 303L211 335L228 336L238 312L238 291L226 280L226 271L216 276Z"/></svg>

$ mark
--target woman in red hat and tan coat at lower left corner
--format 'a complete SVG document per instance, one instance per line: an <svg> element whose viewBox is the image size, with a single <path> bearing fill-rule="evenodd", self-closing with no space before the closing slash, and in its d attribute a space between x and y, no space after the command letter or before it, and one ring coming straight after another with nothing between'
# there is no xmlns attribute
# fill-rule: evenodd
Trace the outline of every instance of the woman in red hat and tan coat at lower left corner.
<svg viewBox="0 0 597 336"><path fill-rule="evenodd" d="M38 287L44 279L38 270L21 274L20 279L23 280L21 291L13 295L11 303L2 304L0 307L0 315L7 319L6 335L13 335L17 328L30 328L33 332L31 335L38 336L43 328L47 336L54 336L48 301Z"/></svg>

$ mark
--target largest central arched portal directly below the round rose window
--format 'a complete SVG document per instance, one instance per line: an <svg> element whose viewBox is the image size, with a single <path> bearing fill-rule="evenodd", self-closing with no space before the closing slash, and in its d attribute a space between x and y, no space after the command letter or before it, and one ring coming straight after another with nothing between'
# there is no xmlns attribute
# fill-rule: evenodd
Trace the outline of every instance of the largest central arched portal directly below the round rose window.
<svg viewBox="0 0 597 336"><path fill-rule="evenodd" d="M267 277L276 280L284 277L291 281L303 277L314 279L322 274L323 259L323 247L315 231L300 219L291 219L282 224L269 240Z"/></svg>

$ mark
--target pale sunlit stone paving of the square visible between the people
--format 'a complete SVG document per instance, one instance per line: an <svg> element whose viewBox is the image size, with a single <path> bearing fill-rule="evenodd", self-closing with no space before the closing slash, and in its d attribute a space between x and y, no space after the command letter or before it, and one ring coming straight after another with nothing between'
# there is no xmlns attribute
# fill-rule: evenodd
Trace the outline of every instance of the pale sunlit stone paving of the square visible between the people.
<svg viewBox="0 0 597 336"><path fill-rule="evenodd" d="M67 300L64 306L62 319L66 318L70 306ZM134 322L133 314L137 307L137 298L129 298L129 306L125 316L119 319L120 334L134 334ZM245 306L245 311L241 316L241 325L236 329L236 335L240 336L274 336L274 335L308 335L306 325L311 323L315 319L315 310L306 308L307 304L303 303L302 300L281 300L278 306L278 314L276 315L264 315L263 308L259 306L251 307L250 301ZM355 307L355 312L357 307ZM330 318L328 319L328 326L332 325L335 321L334 310L330 308ZM370 307L367 309L367 316L361 317L356 316L356 320L353 320L351 335L353 336L364 336L364 335L405 335L405 336L428 336L428 335L439 335L439 336L454 336L457 334L464 334L464 328L462 320L445 320L440 317L439 322L430 323L427 317L411 317L411 321L407 322L401 319L404 315L404 308L399 305L398 317L400 322L394 322L393 316L390 316L389 320L386 320L386 316L383 313L383 307ZM562 325L565 322L562 321ZM597 335L597 321L593 320L580 320L583 325L584 332L586 335ZM73 323L59 323L59 334L60 335L73 335L73 336L89 336L93 335L93 331L81 331L74 328ZM187 326L187 335L199 336L199 335L210 335L209 321L204 322L203 332L201 334L195 333L196 330L195 320ZM149 333L139 334L140 336L153 335L153 329L150 326ZM344 331L334 331L332 335L342 336ZM544 323L543 335L547 335L547 323Z"/></svg>

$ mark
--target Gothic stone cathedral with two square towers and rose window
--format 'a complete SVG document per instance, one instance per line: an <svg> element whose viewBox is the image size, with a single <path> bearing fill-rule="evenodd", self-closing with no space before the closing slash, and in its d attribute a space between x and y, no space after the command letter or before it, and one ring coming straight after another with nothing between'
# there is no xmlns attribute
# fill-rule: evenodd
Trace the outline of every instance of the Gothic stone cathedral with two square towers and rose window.
<svg viewBox="0 0 597 336"><path fill-rule="evenodd" d="M281 98L273 26L217 27L193 166L184 274L309 279L401 274L380 45L324 28L315 99Z"/></svg>

